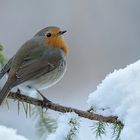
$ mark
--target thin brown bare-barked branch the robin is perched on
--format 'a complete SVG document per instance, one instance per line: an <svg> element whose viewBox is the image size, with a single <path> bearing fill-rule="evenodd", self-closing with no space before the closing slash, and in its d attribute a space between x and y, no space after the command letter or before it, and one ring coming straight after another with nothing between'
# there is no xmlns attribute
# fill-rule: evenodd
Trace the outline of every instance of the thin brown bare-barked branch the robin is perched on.
<svg viewBox="0 0 140 140"><path fill-rule="evenodd" d="M19 100L21 102L26 102L29 104L33 104L35 106L40 106L42 108L46 108L46 109L51 109L54 111L59 111L59 112L75 112L76 114L78 114L80 117L83 118L87 118L90 120L95 120L95 121L102 121L102 122L107 122L107 123L114 123L114 124L118 124L121 128L123 128L123 123L121 121L119 121L117 118L117 116L102 116L102 115L98 115L98 114L93 114L90 113L88 111L82 111L76 108L71 108L71 107L66 107L66 106L62 106L59 104L55 104L53 102L49 102L49 103L45 103L42 100L39 99L35 99L26 95L22 95L18 92L10 92L8 95L8 98L11 99L16 99Z"/></svg>

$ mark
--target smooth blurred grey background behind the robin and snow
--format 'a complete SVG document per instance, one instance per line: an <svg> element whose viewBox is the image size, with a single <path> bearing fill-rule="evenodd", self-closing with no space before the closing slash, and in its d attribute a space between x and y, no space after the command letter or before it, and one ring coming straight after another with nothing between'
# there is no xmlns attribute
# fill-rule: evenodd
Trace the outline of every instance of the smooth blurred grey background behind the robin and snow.
<svg viewBox="0 0 140 140"><path fill-rule="evenodd" d="M42 92L56 103L87 109L88 94L107 74L140 59L139 7L139 0L0 0L0 43L10 58L46 26L67 30L67 72ZM34 121L23 112L18 116L15 104L0 108L0 124L38 140ZM87 128L83 140L93 139Z"/></svg>

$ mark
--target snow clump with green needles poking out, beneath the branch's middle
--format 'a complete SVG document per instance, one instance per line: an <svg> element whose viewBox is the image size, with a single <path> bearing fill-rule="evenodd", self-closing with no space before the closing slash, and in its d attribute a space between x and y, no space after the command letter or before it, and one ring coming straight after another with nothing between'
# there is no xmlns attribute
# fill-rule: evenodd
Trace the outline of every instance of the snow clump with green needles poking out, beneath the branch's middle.
<svg viewBox="0 0 140 140"><path fill-rule="evenodd" d="M58 128L48 135L47 140L78 140L79 117L75 113L65 113L57 120Z"/></svg>

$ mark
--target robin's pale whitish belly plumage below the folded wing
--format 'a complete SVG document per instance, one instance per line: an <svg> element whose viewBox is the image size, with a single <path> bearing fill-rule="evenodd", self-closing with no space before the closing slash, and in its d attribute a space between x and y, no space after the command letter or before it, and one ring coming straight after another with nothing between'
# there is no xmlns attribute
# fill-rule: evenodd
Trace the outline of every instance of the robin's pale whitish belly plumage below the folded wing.
<svg viewBox="0 0 140 140"><path fill-rule="evenodd" d="M36 89L46 89L56 84L63 77L66 71L66 61L62 61L60 65L53 71L50 71L37 79L24 82L21 86L30 86Z"/></svg>

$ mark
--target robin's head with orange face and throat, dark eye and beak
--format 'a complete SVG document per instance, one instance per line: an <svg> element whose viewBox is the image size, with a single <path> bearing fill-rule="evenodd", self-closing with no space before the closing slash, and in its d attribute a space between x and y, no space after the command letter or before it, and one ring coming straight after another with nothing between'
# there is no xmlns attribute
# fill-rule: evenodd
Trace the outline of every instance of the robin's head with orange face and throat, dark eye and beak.
<svg viewBox="0 0 140 140"><path fill-rule="evenodd" d="M43 36L46 45L60 48L65 54L68 54L69 49L63 36L65 32L66 31L61 31L58 27L50 26L40 30L35 36Z"/></svg>

